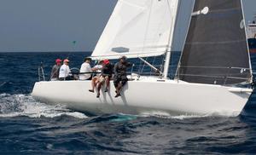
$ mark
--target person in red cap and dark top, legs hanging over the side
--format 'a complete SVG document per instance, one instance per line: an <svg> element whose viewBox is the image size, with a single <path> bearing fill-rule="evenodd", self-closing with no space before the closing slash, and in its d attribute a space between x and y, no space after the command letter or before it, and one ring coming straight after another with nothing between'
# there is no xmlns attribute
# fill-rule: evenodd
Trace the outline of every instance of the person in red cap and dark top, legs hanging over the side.
<svg viewBox="0 0 256 155"><path fill-rule="evenodd" d="M110 78L112 77L113 74L113 65L110 63L109 60L104 60L103 62L103 66L102 66L102 74L101 77L99 79L99 82L96 85L97 88L97 95L96 97L100 97L100 90L102 89L102 85L105 82L106 84L106 88L105 88L105 92L108 92L109 89L109 81Z"/></svg>

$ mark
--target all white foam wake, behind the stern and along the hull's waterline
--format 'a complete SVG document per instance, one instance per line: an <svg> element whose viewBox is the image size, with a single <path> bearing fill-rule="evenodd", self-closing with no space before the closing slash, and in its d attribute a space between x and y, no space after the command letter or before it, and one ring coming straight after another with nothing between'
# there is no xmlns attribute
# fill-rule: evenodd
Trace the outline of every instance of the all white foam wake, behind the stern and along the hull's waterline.
<svg viewBox="0 0 256 155"><path fill-rule="evenodd" d="M60 116L70 116L73 118L88 118L84 113L72 112L65 106L51 106L37 102L31 95L9 95L0 94L0 117L12 118L26 116L29 118L55 118ZM119 114L113 121L129 121L136 118L167 118L167 119L191 119L208 117L234 117L236 113L211 113L205 115L170 115L166 112L144 112L139 115ZM128 117L128 118L126 118Z"/></svg>

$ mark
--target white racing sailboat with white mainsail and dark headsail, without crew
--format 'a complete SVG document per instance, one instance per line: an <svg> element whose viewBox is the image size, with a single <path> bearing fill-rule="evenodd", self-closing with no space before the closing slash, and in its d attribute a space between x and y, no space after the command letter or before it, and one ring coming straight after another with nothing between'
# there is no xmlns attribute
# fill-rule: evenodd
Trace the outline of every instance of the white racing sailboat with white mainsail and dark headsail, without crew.
<svg viewBox="0 0 256 155"><path fill-rule="evenodd" d="M119 0L91 55L94 60L125 55L144 62L144 57L165 55L161 76L131 76L119 98L113 97L112 82L96 98L88 91L90 81L37 82L32 96L95 114L239 115L253 92L241 0L195 0L177 73L170 79L178 8L178 0Z"/></svg>

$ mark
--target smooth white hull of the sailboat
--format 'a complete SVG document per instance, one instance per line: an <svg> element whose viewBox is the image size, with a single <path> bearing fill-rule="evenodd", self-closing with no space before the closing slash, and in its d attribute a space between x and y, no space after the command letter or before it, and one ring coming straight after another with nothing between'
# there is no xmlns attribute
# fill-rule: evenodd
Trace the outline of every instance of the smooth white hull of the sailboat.
<svg viewBox="0 0 256 155"><path fill-rule="evenodd" d="M253 89L240 89L210 84L158 81L148 78L129 81L119 98L114 98L113 83L108 93L90 93L90 81L50 81L35 83L32 96L49 104L62 104L70 109L92 112L142 114L240 114Z"/></svg>

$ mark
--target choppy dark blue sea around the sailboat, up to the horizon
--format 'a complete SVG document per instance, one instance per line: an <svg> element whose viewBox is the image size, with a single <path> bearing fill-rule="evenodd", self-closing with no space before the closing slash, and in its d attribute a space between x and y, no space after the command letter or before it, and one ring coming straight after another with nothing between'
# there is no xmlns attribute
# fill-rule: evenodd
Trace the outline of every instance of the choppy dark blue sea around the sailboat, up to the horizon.
<svg viewBox="0 0 256 155"><path fill-rule="evenodd" d="M69 57L70 66L79 68L87 55L90 53L0 53L0 154L256 153L255 93L239 117L91 116L32 98L41 62L49 79L56 58ZM175 66L179 54L173 55ZM255 68L255 55L252 63ZM174 67L170 70L175 72Z"/></svg>

